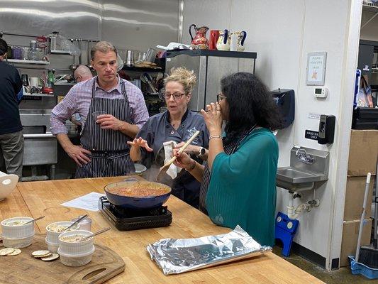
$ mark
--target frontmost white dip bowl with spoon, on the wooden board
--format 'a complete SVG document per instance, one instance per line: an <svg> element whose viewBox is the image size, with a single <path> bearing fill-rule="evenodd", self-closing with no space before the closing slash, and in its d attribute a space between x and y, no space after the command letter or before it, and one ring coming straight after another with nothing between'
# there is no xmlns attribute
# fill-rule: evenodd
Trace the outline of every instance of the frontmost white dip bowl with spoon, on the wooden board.
<svg viewBox="0 0 378 284"><path fill-rule="evenodd" d="M84 266L91 261L94 253L94 238L79 241L85 236L92 236L91 231L67 231L59 236L57 253L65 266Z"/></svg>

